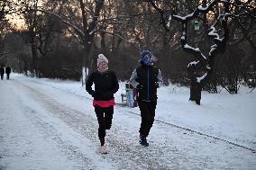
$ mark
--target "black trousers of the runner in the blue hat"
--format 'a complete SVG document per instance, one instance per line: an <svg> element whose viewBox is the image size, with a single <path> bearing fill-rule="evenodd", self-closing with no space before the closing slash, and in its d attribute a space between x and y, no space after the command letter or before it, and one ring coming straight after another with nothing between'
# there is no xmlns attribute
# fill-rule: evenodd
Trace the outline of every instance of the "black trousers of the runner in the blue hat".
<svg viewBox="0 0 256 170"><path fill-rule="evenodd" d="M141 117L142 123L141 128L139 130L140 134L144 137L149 136L151 127L155 120L155 110L157 101L145 102L145 101L138 101L140 110L141 110Z"/></svg>

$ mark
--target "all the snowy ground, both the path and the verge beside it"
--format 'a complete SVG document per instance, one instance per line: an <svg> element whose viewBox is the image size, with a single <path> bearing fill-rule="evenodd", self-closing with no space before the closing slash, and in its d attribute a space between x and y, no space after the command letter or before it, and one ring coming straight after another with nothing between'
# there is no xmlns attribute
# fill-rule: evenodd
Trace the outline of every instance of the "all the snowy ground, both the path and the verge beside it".
<svg viewBox="0 0 256 170"><path fill-rule="evenodd" d="M256 93L246 92L203 93L197 106L187 88L161 87L148 148L138 143L139 109L117 104L101 155L80 83L13 74L0 80L0 169L256 169Z"/></svg>

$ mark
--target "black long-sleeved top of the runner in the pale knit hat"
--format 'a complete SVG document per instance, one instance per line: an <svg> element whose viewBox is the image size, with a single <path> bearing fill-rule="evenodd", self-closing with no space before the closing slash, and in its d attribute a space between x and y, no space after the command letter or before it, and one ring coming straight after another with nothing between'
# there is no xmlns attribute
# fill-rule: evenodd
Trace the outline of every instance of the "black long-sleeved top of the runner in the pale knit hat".
<svg viewBox="0 0 256 170"><path fill-rule="evenodd" d="M93 84L95 84L95 90L92 89ZM96 101L108 101L114 99L119 85L113 71L104 73L96 71L87 78L86 88Z"/></svg>

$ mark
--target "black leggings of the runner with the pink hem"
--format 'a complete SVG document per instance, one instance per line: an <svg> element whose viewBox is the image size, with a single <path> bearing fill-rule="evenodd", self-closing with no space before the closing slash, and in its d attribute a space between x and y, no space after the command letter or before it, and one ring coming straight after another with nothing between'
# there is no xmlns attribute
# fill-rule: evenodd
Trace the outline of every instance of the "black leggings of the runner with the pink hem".
<svg viewBox="0 0 256 170"><path fill-rule="evenodd" d="M110 130L112 125L114 106L100 107L95 106L96 117L98 121L98 137L105 138L105 130Z"/></svg>

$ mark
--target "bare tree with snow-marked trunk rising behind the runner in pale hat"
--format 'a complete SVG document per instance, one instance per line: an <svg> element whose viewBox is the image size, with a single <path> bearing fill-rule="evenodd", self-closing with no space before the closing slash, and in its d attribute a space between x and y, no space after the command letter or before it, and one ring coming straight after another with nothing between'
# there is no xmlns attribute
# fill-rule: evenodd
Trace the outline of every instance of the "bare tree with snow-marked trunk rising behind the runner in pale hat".
<svg viewBox="0 0 256 170"><path fill-rule="evenodd" d="M72 16L78 14L80 16L80 22L82 25L76 25L74 22L69 22L68 19L61 16L59 13L55 13L54 11L50 11L50 9L43 9L43 8L33 8L29 9L28 11L32 11L32 13L42 12L50 14L59 19L60 22L65 23L71 30L69 30L75 37L78 38L78 41L82 44L84 49L83 54L83 68L82 68L82 84L84 85L84 81L86 79L87 70L91 71L92 63L93 63L93 47L94 47L94 40L96 32L99 30L97 28L97 21L100 17L100 13L104 7L104 0L95 0L95 1L83 1L83 0L73 0L70 2L67 1L58 1L55 6L61 7L59 4L71 3L68 6L73 13ZM79 11L72 10L72 7L75 8L78 6ZM62 9L62 8L61 8ZM70 12L70 11L69 11ZM75 13L75 14L74 14ZM74 19L74 18L73 18Z"/></svg>

